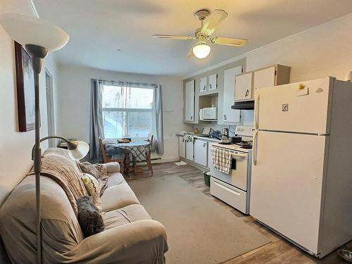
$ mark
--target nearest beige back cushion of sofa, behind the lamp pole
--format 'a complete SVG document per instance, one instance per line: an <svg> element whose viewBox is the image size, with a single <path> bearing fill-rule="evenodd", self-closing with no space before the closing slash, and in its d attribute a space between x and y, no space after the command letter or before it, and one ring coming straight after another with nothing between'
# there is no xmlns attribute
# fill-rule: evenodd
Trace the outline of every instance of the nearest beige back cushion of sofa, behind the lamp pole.
<svg viewBox="0 0 352 264"><path fill-rule="evenodd" d="M65 253L83 239L80 224L65 191L41 176L43 259ZM13 263L35 263L36 216L34 175L25 177L0 210L0 234Z"/></svg>

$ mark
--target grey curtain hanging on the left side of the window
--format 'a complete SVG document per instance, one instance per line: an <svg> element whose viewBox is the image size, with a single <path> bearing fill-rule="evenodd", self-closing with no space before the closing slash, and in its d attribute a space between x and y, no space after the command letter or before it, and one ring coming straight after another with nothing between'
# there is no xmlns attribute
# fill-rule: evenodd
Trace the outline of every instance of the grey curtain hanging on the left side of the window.
<svg viewBox="0 0 352 264"><path fill-rule="evenodd" d="M103 111L102 111L101 80L91 80L90 122L89 122L89 158L99 158L99 137L103 139Z"/></svg>

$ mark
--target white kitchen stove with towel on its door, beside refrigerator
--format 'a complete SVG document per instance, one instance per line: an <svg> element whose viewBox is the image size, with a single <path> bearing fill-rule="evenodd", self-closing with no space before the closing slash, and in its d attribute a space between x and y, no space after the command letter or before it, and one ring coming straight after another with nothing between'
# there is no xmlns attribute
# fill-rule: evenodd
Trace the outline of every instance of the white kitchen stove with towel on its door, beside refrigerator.
<svg viewBox="0 0 352 264"><path fill-rule="evenodd" d="M242 141L236 144L215 143L212 148L230 152L230 172L220 172L210 164L210 194L225 201L242 213L249 213L249 196L251 182L251 139L253 127L237 126L236 135Z"/></svg>

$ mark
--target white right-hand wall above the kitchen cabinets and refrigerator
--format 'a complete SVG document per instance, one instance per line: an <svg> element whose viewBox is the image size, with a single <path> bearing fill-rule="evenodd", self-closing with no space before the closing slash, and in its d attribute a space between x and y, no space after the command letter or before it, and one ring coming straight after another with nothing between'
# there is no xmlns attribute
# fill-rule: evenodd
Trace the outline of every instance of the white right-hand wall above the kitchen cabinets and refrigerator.
<svg viewBox="0 0 352 264"><path fill-rule="evenodd" d="M352 70L352 14L205 68L184 79L240 58L246 58L248 71L277 63L291 66L290 82L327 76L344 80L346 73ZM242 114L244 125L252 125L253 111L242 111Z"/></svg>

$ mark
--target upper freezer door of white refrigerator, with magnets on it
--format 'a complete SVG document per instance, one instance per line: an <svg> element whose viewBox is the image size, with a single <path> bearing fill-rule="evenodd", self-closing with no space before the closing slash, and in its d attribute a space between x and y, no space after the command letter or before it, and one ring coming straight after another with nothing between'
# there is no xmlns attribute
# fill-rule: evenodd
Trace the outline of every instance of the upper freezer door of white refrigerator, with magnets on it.
<svg viewBox="0 0 352 264"><path fill-rule="evenodd" d="M256 129L329 134L330 80L324 78L256 90Z"/></svg>

